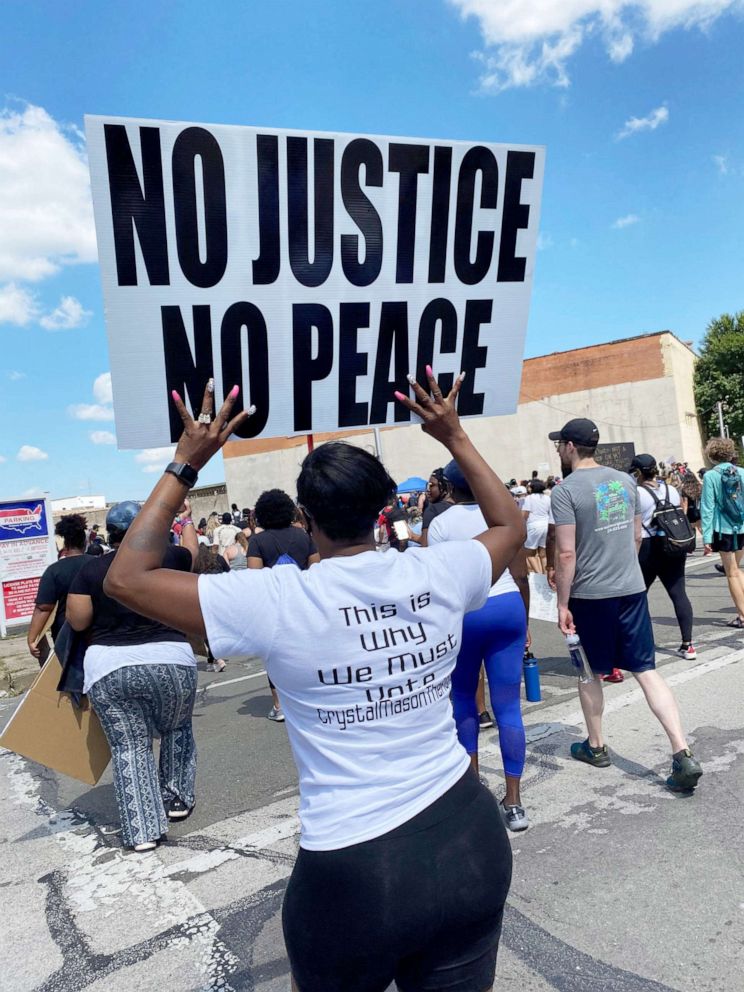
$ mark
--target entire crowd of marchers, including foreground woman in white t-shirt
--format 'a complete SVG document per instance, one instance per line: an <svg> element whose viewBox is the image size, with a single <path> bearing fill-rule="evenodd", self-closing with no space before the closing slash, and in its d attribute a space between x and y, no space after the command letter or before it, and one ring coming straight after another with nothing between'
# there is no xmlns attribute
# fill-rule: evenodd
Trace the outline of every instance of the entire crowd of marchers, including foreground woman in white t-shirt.
<svg viewBox="0 0 744 992"><path fill-rule="evenodd" d="M190 639L204 640L216 667L263 660L269 717L286 721L299 774L283 925L300 992L373 992L393 979L491 987L511 874L506 830L529 825L520 686L530 572L556 589L560 630L579 636L590 669L579 680L587 737L572 757L611 764L603 681L632 673L669 739L675 791L692 792L702 768L656 670L647 590L662 582L680 655L694 658L691 524L720 554L732 626L744 627L744 471L731 442L708 444L714 469L693 486L691 473L648 454L628 472L599 465L596 425L573 420L550 435L560 476L504 485L460 425L461 382L444 397L427 370L412 397L396 393L448 454L425 493L400 499L378 459L332 442L305 458L296 501L273 489L252 511L233 505L198 524L189 488L249 413L231 417L233 390L215 416L207 389L194 420L175 395L184 433L150 498L109 511L110 551L93 559L85 521L63 518L60 560L39 587L29 647L36 653L55 609L52 636L66 619L84 638L84 689L111 745L123 841L137 852L196 802ZM478 735L491 720L484 670L499 802L478 776Z"/></svg>

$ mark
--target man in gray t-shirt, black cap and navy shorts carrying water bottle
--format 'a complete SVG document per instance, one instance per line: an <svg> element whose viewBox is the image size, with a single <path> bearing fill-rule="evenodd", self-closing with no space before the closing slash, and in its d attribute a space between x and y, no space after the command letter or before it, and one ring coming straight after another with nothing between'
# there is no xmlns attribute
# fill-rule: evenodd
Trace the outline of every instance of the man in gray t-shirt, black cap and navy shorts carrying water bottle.
<svg viewBox="0 0 744 992"><path fill-rule="evenodd" d="M624 668L637 679L672 745L667 785L690 791L703 770L687 746L677 702L656 671L646 585L638 564L641 509L636 484L629 475L595 461L599 431L591 420L570 420L548 436L564 476L551 496L558 626L563 634L579 635L592 671L600 676L579 681L588 737L571 745L571 756L596 768L610 764L602 737L600 679L621 682L619 669Z"/></svg>

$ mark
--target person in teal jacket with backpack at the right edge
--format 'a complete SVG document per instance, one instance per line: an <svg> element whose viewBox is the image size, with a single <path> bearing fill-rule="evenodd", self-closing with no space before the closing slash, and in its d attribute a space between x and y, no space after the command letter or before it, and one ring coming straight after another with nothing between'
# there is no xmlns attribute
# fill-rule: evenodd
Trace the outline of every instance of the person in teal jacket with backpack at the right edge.
<svg viewBox="0 0 744 992"><path fill-rule="evenodd" d="M731 438L714 437L705 454L713 468L703 476L700 515L706 551L718 551L736 616L729 627L744 628L744 470L734 464L736 446Z"/></svg>

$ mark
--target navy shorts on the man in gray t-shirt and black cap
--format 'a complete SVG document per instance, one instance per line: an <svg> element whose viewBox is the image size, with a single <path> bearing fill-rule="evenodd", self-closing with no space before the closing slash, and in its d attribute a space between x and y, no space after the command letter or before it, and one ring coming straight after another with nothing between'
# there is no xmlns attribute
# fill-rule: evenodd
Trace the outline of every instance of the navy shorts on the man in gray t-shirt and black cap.
<svg viewBox="0 0 744 992"><path fill-rule="evenodd" d="M610 599L572 597L568 608L593 672L607 675L613 668L624 668L626 672L656 668L654 632L645 592Z"/></svg>

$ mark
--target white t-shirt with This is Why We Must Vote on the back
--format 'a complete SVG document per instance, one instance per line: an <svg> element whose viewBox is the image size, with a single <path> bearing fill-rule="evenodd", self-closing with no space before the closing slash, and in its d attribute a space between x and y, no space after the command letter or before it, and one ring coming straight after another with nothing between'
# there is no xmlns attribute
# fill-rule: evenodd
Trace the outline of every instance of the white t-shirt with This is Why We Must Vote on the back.
<svg viewBox="0 0 744 992"><path fill-rule="evenodd" d="M379 837L465 773L450 676L490 584L478 541L199 576L214 654L259 655L279 693L302 847Z"/></svg>

